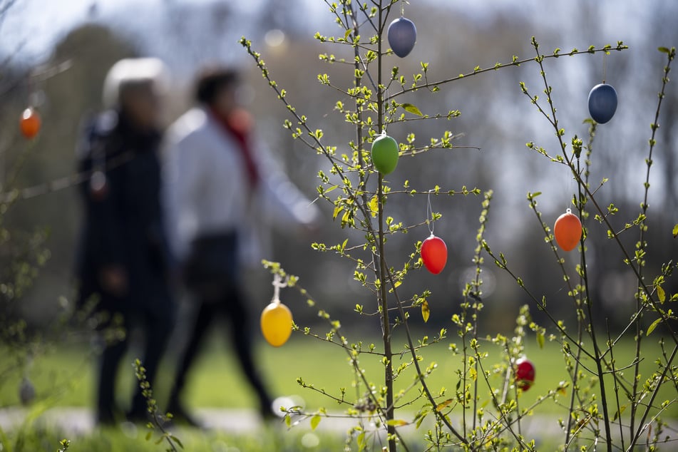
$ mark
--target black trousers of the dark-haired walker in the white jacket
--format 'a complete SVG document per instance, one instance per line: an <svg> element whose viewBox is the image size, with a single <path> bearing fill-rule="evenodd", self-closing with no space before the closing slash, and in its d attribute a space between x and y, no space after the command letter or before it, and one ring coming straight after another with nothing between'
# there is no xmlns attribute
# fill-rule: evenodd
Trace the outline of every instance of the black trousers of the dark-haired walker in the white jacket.
<svg viewBox="0 0 678 452"><path fill-rule="evenodd" d="M210 299L205 299L202 297L195 324L192 332L190 332L188 346L186 347L183 359L178 364L175 386L170 394L170 411L172 411L173 407L180 406L180 396L185 386L190 366L197 357L200 346L205 339L205 334L218 317L227 319L230 323L230 337L232 344L235 346L235 353L240 363L240 368L259 399L262 415L269 416L272 410L272 399L269 397L255 365L252 353L250 316L247 314L245 299L238 287L225 289L216 298L210 297Z"/></svg>

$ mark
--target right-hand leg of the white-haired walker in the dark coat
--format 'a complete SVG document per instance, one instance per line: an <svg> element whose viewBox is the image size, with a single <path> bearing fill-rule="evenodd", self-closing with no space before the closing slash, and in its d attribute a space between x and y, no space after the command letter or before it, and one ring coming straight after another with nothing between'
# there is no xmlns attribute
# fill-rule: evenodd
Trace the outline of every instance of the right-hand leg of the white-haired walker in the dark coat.
<svg viewBox="0 0 678 452"><path fill-rule="evenodd" d="M145 336L145 351L141 364L146 370L146 380L155 387L155 376L158 373L160 359L167 347L170 334L174 328L175 310L169 295L163 302L154 307L147 307L143 312L143 329ZM143 391L136 384L136 391L130 409L131 418L145 418L148 404Z"/></svg>

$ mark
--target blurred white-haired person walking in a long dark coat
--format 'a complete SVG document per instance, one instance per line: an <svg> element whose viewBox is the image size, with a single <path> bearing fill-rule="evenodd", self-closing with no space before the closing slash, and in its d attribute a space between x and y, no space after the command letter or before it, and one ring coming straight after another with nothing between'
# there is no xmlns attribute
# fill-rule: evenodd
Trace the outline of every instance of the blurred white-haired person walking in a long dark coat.
<svg viewBox="0 0 678 452"><path fill-rule="evenodd" d="M130 329L140 326L144 333L141 358L153 384L173 328L158 156L159 93L166 73L155 58L115 63L104 86L109 109L86 125L78 150L80 170L90 175L81 190L85 221L78 255L78 302L83 306L95 299L96 312L104 316L99 329L106 331L118 322L125 333L103 344L96 401L96 420L102 424L120 418L115 379ZM131 371L131 366L125 369ZM147 416L138 385L127 416L135 421Z"/></svg>

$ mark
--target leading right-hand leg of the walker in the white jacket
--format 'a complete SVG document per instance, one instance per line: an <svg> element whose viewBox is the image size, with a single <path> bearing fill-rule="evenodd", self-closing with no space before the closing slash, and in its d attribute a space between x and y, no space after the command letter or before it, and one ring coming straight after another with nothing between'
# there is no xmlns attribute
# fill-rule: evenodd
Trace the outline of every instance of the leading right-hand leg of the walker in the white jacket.
<svg viewBox="0 0 678 452"><path fill-rule="evenodd" d="M238 361L240 361L242 371L247 376L247 381L249 381L259 398L260 413L264 418L269 418L273 415L273 401L255 364L250 316L247 314L247 307L245 306L242 292L239 289L233 289L224 303L227 316L231 322L232 342L235 346Z"/></svg>

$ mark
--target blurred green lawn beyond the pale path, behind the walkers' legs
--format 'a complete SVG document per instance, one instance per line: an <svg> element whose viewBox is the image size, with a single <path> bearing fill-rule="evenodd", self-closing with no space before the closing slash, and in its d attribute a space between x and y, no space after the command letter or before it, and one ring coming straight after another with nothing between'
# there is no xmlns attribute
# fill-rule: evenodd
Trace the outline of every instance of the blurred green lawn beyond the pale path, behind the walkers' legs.
<svg viewBox="0 0 678 452"><path fill-rule="evenodd" d="M656 345L657 339L659 338L650 338L644 343L647 348L643 353L641 365L643 378L649 376L650 372L655 369L653 361L659 356L659 346ZM448 339L441 344L434 344L421 352L423 356L421 364L424 368L431 362L437 363L437 369L428 381L431 390L438 393L441 388L445 387L448 389L446 394L448 397L453 394L458 380L456 371L461 361L460 355L453 355L448 350L450 341ZM225 338L214 334L209 345L197 360L195 368L190 374L190 381L185 393L185 401L188 406L227 408L255 406L255 399L242 377L235 356L225 344ZM520 396L519 403L522 407L529 406L538 396L545 394L548 390L557 388L560 381L567 381L563 356L558 344L547 343L543 349L540 349L536 345L536 341L532 339L528 340L525 348L528 357L535 363L537 374L534 386ZM500 362L500 354L496 346L485 341L483 341L483 349L490 353L489 358L483 361L486 370L489 370L493 364ZM617 366L630 364L632 356L633 344L631 341L622 341L615 347ZM134 357L133 354L130 354L125 358L119 376L120 403L123 406L135 387L131 365ZM160 406L163 406L173 374L171 358L172 356L168 356L168 359L165 360L163 369L161 369L161 377L155 387ZM302 337L301 334L294 334L293 339L279 349L274 349L264 343L258 344L257 359L274 396L300 395L306 401L307 409L310 410L318 409L321 406L329 410L343 409L337 402L328 399L317 391L301 388L296 380L298 377L302 377L307 384L313 384L317 389L325 389L329 394L335 396L339 396L339 388L346 388L346 398L355 399L356 390L352 387L354 372L349 365L345 351L339 346ZM396 357L394 366L399 366L409 359L409 354L404 355L402 359ZM94 394L95 361L88 349L84 347L56 349L51 354L39 356L30 371L38 396L56 393L58 394L56 403L59 405L91 406ZM383 366L381 366L379 356L361 355L360 364L369 376L369 380L379 386L383 381ZM591 365L591 363L589 362L587 365ZM626 372L630 374L631 369ZM404 389L411 384L413 379L414 372L408 370L396 381L396 386L398 386L398 389ZM493 376L492 381L495 386L500 386L501 377ZM606 382L607 393L612 396L612 380L607 379ZM14 375L12 378L1 382L1 406L19 404L18 386L19 375ZM479 380L479 388L481 397L488 399L488 389L481 380ZM364 388L360 389L360 394L357 395L361 396L363 391ZM569 395L568 389L565 396L559 397L559 403L567 404ZM625 397L621 397L623 404ZM675 399L675 397L674 387L667 385L660 393L658 401ZM611 403L614 403L613 399L610 400ZM409 406L406 411L416 411L420 406L421 403L417 401ZM677 409L671 407L670 410L670 415L678 417ZM538 412L565 414L565 410L553 401L543 403Z"/></svg>

